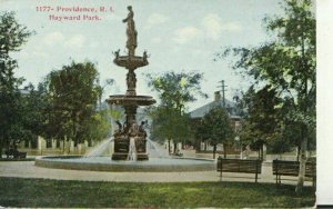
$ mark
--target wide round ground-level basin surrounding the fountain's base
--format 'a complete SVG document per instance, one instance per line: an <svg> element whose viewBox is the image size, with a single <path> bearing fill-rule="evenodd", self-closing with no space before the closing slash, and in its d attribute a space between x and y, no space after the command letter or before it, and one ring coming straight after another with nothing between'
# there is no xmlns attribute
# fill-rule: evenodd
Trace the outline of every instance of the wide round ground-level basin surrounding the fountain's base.
<svg viewBox="0 0 333 209"><path fill-rule="evenodd" d="M34 165L56 169L121 172L180 172L216 169L215 160L195 158L150 158L148 161L111 161L110 157L56 156L38 158Z"/></svg>

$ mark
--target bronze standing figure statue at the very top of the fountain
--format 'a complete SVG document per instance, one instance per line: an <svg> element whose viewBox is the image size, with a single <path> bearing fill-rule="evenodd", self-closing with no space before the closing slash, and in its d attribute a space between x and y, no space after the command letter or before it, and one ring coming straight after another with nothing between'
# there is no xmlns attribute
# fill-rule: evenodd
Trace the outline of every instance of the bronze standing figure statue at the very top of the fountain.
<svg viewBox="0 0 333 209"><path fill-rule="evenodd" d="M125 19L123 19L123 22L128 23L128 29L127 29L127 36L128 36L128 41L127 41L127 48L129 49L129 56L133 57L135 48L138 46L137 43L137 30L135 30L135 23L134 23L134 12L132 10L132 6L128 7L129 14Z"/></svg>

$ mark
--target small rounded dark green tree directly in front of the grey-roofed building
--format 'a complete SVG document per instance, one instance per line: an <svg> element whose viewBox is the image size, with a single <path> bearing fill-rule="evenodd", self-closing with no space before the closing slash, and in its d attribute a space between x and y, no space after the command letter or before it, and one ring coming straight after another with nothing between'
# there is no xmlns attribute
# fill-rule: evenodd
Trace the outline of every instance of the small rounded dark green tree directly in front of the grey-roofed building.
<svg viewBox="0 0 333 209"><path fill-rule="evenodd" d="M212 108L201 120L198 135L210 141L213 146L213 158L215 159L218 143L223 143L224 158L226 158L226 145L234 136L230 117L223 107Z"/></svg>

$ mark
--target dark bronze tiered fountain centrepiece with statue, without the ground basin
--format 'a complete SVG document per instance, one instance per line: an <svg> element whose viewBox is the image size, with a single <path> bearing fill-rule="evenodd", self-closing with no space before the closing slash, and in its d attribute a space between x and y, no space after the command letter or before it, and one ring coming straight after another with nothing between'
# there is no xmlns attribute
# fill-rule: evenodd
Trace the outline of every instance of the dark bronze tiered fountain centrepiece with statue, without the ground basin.
<svg viewBox="0 0 333 209"><path fill-rule="evenodd" d="M137 77L135 69L148 66L147 51L142 57L135 56L135 48L138 46L135 23L133 20L134 12L132 7L128 7L129 14L123 22L128 24L127 28L127 48L128 54L120 56L120 50L114 52L113 62L128 70L125 94L114 94L107 99L110 104L122 106L125 110L125 122L121 125L117 121L119 128L114 133L114 152L112 160L148 160L147 153L147 133L143 129L144 122L140 125L135 120L137 109L139 106L151 106L155 100L150 96L137 96Z"/></svg>

